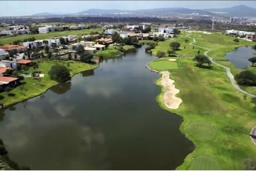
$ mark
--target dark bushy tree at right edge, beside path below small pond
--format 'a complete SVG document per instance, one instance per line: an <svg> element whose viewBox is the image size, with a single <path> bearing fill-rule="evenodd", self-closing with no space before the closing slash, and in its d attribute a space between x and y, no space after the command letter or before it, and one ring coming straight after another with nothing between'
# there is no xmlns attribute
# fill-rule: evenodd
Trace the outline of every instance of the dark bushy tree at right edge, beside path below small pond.
<svg viewBox="0 0 256 171"><path fill-rule="evenodd" d="M255 86L256 85L256 74L251 71L242 71L235 75L235 80L239 85Z"/></svg>

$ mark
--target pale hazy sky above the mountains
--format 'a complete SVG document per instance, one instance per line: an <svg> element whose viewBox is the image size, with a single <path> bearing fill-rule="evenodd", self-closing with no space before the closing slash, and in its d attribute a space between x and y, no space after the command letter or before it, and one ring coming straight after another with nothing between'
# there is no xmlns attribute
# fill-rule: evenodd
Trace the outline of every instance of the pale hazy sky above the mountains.
<svg viewBox="0 0 256 171"><path fill-rule="evenodd" d="M33 15L35 13L76 13L88 9L153 9L184 7L189 9L226 8L256 1L0 1L0 16Z"/></svg>

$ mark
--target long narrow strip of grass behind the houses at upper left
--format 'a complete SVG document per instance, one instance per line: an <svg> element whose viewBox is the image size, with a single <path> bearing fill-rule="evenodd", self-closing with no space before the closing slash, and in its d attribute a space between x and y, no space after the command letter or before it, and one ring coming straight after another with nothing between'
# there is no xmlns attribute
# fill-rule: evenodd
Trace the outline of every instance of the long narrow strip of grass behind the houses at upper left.
<svg viewBox="0 0 256 171"><path fill-rule="evenodd" d="M103 29L82 29L82 30L71 30L71 31L64 31L64 32L40 33L35 35L19 35L16 37L0 38L0 44L9 44L15 40L23 41L25 38L32 38L32 37L34 37L36 40L44 40L44 39L54 38L54 37L64 37L67 35L84 35L90 32L102 33Z"/></svg>

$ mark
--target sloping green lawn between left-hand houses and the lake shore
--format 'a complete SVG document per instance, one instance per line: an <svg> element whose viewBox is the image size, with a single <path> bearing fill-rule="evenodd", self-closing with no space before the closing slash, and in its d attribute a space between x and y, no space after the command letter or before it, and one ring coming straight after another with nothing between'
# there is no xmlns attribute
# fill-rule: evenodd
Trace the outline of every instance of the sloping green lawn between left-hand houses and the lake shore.
<svg viewBox="0 0 256 171"><path fill-rule="evenodd" d="M3 103L4 106L10 105L12 103L20 102L22 100L29 99L31 97L37 96L45 92L51 86L57 84L57 82L50 80L48 71L56 63L60 65L67 66L67 63L70 63L70 75L73 76L78 74L81 71L86 71L89 69L97 68L98 65L89 65L87 63L81 63L79 61L57 61L57 60L36 60L39 68L37 71L41 71L42 74L45 74L45 77L42 77L41 80L34 79L32 77L24 78L23 82L26 82L24 85L17 86L12 89L10 92L1 92L0 95L4 96L4 99L0 100L0 103ZM29 69L29 73L33 72L34 69ZM22 88L22 89L21 89ZM14 97L10 97L7 94L13 93Z"/></svg>

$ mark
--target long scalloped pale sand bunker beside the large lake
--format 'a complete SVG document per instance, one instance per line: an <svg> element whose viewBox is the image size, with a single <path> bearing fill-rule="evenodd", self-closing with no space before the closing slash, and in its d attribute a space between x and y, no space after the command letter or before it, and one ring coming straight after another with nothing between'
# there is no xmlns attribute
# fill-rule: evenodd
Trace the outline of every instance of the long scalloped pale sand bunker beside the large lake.
<svg viewBox="0 0 256 171"><path fill-rule="evenodd" d="M164 96L163 96L163 102L164 105L167 106L167 108L176 110L178 106L180 106L180 103L182 100L175 95L180 92L179 89L175 88L174 86L174 80L171 80L169 78L170 72L168 71L162 71L162 78L161 78L161 85L164 88Z"/></svg>

